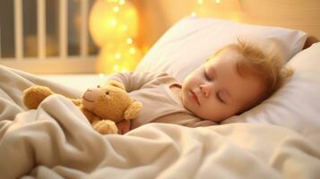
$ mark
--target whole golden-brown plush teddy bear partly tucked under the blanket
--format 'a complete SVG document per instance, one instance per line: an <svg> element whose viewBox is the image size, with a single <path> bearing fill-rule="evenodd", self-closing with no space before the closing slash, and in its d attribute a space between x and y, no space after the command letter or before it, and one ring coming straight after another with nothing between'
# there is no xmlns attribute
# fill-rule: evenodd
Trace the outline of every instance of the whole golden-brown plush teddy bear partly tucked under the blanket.
<svg viewBox="0 0 320 179"><path fill-rule="evenodd" d="M54 92L45 86L31 86L23 90L23 103L29 109L39 104ZM104 88L86 90L82 98L70 98L87 117L92 127L101 134L118 133L117 122L131 120L139 115L143 104L135 101L117 81L108 81Z"/></svg>

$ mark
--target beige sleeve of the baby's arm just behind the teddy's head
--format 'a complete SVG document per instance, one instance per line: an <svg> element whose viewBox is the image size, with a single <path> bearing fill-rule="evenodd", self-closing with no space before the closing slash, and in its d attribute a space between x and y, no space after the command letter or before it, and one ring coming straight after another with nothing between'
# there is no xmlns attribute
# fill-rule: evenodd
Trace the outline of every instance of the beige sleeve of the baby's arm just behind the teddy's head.
<svg viewBox="0 0 320 179"><path fill-rule="evenodd" d="M108 81L119 81L125 86L127 92L139 90L151 81L155 81L160 77L168 76L166 72L152 73L152 72L117 72L110 74L107 77Z"/></svg>

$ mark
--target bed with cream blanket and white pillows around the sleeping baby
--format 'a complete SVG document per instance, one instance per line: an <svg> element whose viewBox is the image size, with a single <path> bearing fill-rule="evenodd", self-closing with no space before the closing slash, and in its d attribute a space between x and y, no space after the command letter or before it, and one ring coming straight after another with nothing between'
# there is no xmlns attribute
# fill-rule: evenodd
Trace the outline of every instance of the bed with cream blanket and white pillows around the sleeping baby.
<svg viewBox="0 0 320 179"><path fill-rule="evenodd" d="M248 35L278 40L295 73L261 105L209 127L145 124L125 135L100 135L65 97L79 98L105 77L39 76L0 66L1 178L319 178L320 43L305 47L307 33L187 17L136 70L183 81L214 50ZM34 84L65 97L26 110L22 90Z"/></svg>

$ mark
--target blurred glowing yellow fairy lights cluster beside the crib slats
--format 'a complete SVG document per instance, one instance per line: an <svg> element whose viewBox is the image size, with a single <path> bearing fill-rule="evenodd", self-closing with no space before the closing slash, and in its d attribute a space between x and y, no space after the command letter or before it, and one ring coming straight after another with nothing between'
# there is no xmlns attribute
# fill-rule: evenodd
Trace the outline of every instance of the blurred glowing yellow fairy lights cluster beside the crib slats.
<svg viewBox="0 0 320 179"><path fill-rule="evenodd" d="M142 58L134 39L138 34L138 13L125 0L96 1L89 19L91 37L99 46L96 71L127 72Z"/></svg>

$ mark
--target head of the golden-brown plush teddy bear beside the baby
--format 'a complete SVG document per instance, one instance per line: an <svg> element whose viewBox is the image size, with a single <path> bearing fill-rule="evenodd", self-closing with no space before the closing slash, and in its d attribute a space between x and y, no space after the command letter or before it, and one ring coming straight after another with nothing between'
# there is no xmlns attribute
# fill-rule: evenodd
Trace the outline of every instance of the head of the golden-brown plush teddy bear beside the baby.
<svg viewBox="0 0 320 179"><path fill-rule="evenodd" d="M103 119L118 122L136 117L142 104L130 98L124 87L116 82L87 90L82 96L82 106Z"/></svg>

